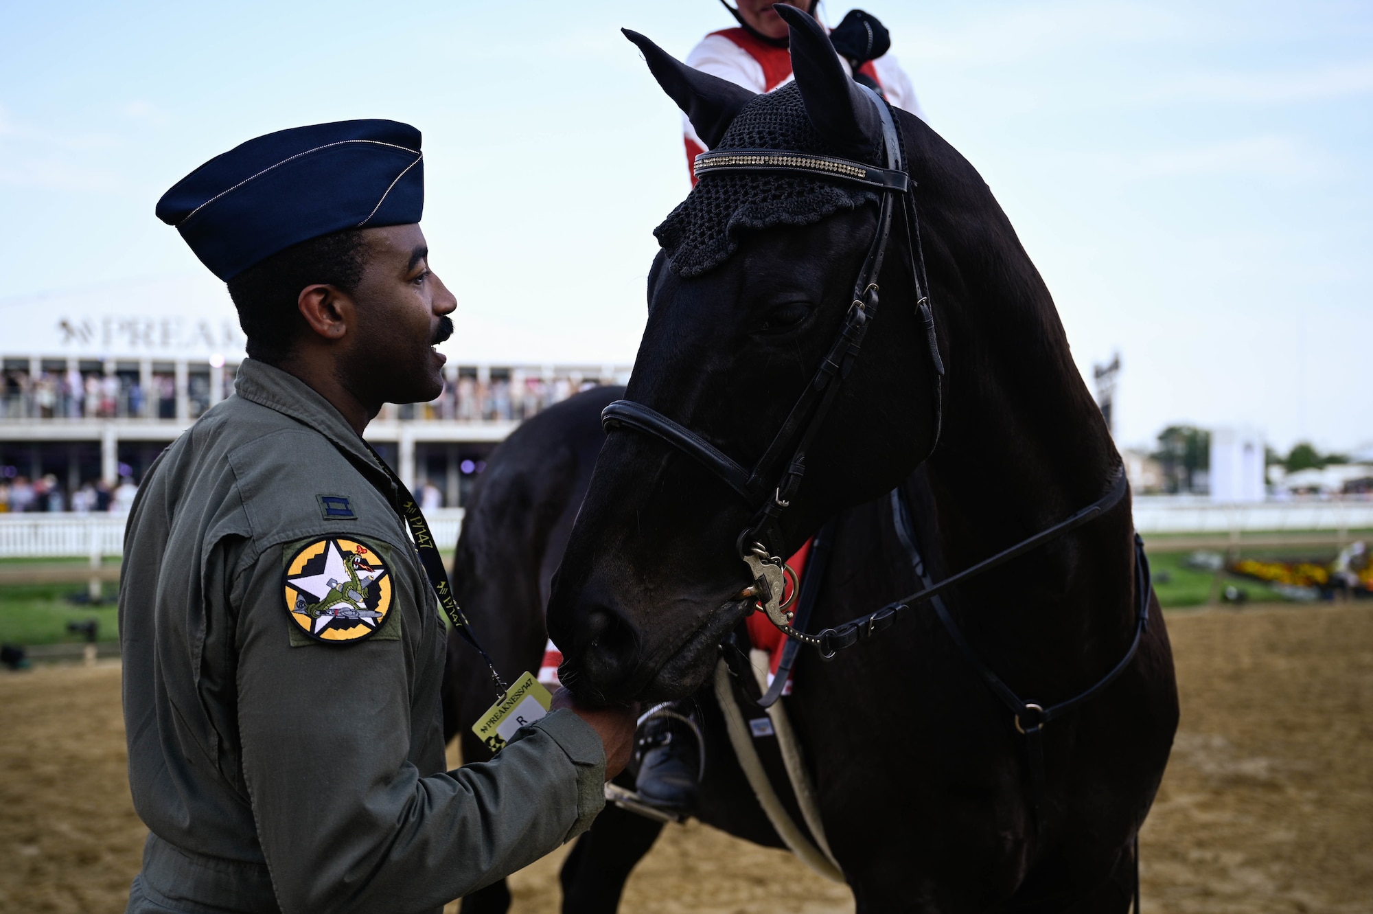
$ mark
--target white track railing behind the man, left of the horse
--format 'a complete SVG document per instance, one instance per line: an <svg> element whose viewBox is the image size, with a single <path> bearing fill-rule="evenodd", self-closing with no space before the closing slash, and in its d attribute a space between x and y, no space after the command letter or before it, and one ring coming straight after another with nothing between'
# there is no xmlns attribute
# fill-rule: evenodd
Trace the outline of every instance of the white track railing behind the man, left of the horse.
<svg viewBox="0 0 1373 914"><path fill-rule="evenodd" d="M461 508L426 512L434 541L448 557L463 527ZM122 515L0 515L0 559L62 559L124 553Z"/></svg>

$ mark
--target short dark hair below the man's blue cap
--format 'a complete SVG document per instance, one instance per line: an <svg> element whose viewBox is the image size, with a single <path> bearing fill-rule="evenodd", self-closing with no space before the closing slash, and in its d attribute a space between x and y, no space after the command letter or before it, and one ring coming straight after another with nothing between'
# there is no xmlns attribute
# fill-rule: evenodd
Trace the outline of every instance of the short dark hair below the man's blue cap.
<svg viewBox="0 0 1373 914"><path fill-rule="evenodd" d="M343 229L279 251L229 280L249 357L268 365L284 362L306 329L301 290L325 283L351 295L365 269L362 229Z"/></svg>

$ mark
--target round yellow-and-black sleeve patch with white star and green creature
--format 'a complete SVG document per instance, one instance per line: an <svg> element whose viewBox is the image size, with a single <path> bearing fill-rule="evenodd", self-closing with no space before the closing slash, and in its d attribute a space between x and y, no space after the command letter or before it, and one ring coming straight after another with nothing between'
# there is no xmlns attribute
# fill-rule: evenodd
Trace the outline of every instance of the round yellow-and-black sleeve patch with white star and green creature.
<svg viewBox="0 0 1373 914"><path fill-rule="evenodd" d="M391 574L360 539L310 539L286 560L286 608L301 633L330 644L371 638L391 609Z"/></svg>

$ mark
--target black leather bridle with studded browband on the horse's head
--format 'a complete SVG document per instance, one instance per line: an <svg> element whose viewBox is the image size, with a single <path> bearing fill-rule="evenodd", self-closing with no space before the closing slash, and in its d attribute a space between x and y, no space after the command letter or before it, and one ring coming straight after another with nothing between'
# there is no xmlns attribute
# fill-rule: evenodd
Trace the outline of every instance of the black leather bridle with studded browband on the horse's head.
<svg viewBox="0 0 1373 914"><path fill-rule="evenodd" d="M873 239L868 247L868 255L864 259L862 268L858 270L858 279L854 281L853 303L849 306L839 333L831 343L814 376L800 392L800 397L796 398L796 403L791 408L787 420L777 430L762 457L758 458L752 469L744 469L696 432L630 399L616 399L601 412L601 424L607 432L618 428L633 428L652 435L700 462L726 486L739 493L748 504L755 506L752 520L740 531L736 541L739 556L748 564L759 604L773 624L792 638L811 644L818 642L813 635L792 629L789 624L791 613L781 605L785 567L783 565L781 556L776 554L784 549L778 524L783 512L791 505L791 500L795 497L806 473L806 453L820 432L825 417L829 414L838 398L840 384L858 360L864 339L868 335L868 327L877 314L877 277L881 273L883 258L886 257L887 243L891 237L892 210L895 210L898 200L906 220L906 243L908 253L912 254L910 265L916 287L916 310L920 313L934 366L935 410L930 452L934 452L935 445L939 442L943 409L943 361L939 358L939 340L935 335L935 320L927 294L930 285L924 276L924 253L921 251L920 261L914 258L914 251L920 250L920 226L916 218L914 200L910 194L914 181L910 180L905 169L901 155L901 136L897 132L897 122L891 117L887 103L879 99L868 86L861 84L854 85L866 93L876 106L877 115L881 119L881 140L887 158L887 167L884 169L851 159L785 150L722 150L702 152L696 156L695 173L697 177L725 172L800 173L858 184L881 192L877 228L873 232ZM914 244L913 248L910 247L912 243ZM789 460L785 460L787 454L791 454ZM923 462L927 457L928 453L919 462ZM784 460L785 468L780 473L769 476L769 471L778 467Z"/></svg>

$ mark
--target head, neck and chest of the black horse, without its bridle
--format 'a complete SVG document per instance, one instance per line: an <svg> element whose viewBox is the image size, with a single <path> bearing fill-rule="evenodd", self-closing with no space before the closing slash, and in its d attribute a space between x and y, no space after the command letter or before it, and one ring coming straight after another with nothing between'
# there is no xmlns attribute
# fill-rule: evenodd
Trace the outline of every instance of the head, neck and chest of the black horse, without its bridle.
<svg viewBox="0 0 1373 914"><path fill-rule="evenodd" d="M711 147L739 148L728 134L736 119L799 117L803 106L820 139L781 150L873 155L881 128L868 99L814 21L778 8L792 26L796 89L768 96L750 97L632 37ZM897 114L923 236L910 237L910 220L892 222L880 316L810 442L799 489L785 500L778 493L789 508L772 552L787 554L825 519L914 473L914 528L939 579L1101 500L1119 456L1049 292L990 189L928 126ZM722 177L704 177L693 195L711 194L711 180ZM876 210L839 203L818 221L802 214L751 232L744 214L730 222L737 250L699 274L660 254L627 398L746 465L758 460L851 313L853 277L881 228ZM946 375L943 434L917 472L939 416L913 262L921 258ZM785 465L763 469L780 478ZM658 438L612 432L548 607L564 683L588 700L629 703L706 682L717 645L752 604L741 598L754 575L739 535L758 523L757 508ZM880 524L854 526L813 627L920 589ZM1019 694L1048 707L1083 692L1134 638L1135 597L1148 582L1135 583L1131 527L1126 498L951 589L951 619ZM847 537L840 530L839 542ZM1123 674L1045 727L1042 782L1031 778L1017 720L924 604L832 663L806 657L789 712L859 911L1124 910L1131 845L1178 714L1153 609Z"/></svg>

